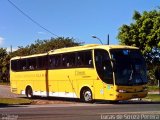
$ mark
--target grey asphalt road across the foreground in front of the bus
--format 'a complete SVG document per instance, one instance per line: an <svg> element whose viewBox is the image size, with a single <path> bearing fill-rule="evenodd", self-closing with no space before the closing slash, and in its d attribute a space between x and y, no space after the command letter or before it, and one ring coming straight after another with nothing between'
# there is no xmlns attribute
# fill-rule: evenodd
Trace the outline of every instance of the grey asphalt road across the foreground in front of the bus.
<svg viewBox="0 0 160 120"><path fill-rule="evenodd" d="M160 104L52 104L5 106L0 108L0 119L18 120L159 120ZM7 119L9 120L9 119Z"/></svg>

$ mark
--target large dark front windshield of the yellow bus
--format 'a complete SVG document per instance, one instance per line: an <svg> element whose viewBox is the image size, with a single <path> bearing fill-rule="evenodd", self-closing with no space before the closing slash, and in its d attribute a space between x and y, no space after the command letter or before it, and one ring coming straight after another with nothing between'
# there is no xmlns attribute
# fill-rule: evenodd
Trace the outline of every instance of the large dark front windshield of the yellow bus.
<svg viewBox="0 0 160 120"><path fill-rule="evenodd" d="M116 85L133 86L147 83L145 60L138 49L112 49L110 54Z"/></svg>

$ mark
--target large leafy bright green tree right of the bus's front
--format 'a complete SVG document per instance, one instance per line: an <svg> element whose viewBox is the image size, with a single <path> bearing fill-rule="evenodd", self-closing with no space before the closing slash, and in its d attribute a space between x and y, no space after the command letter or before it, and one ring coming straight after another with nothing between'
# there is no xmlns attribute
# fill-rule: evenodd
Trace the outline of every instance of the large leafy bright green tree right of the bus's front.
<svg viewBox="0 0 160 120"><path fill-rule="evenodd" d="M135 11L132 19L119 28L117 38L122 45L139 47L150 70L154 69L160 61L160 10Z"/></svg>

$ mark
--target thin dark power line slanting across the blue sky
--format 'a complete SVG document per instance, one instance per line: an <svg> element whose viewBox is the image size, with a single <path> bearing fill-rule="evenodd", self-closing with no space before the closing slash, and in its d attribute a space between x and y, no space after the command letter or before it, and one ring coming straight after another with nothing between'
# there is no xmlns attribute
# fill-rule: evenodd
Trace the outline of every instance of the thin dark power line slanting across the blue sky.
<svg viewBox="0 0 160 120"><path fill-rule="evenodd" d="M50 34L59 37L58 35L54 34L53 32L51 32L50 30L48 30L47 28L43 27L40 23L38 23L37 21L35 21L33 18L31 18L29 15L27 15L25 12L23 12L19 7L17 7L13 2L11 2L10 0L8 0L8 2L14 7L16 8L20 13L22 13L25 17L27 17L29 20L31 20L34 24L36 24L37 26L39 26L40 28L44 29L45 31L49 32Z"/></svg>

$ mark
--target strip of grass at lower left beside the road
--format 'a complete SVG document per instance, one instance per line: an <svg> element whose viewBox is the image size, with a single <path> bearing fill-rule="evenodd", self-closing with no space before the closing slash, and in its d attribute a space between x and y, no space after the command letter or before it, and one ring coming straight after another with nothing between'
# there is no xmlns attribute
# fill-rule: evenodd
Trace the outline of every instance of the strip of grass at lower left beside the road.
<svg viewBox="0 0 160 120"><path fill-rule="evenodd" d="M26 105L31 103L32 100L25 98L0 98L0 105Z"/></svg>

